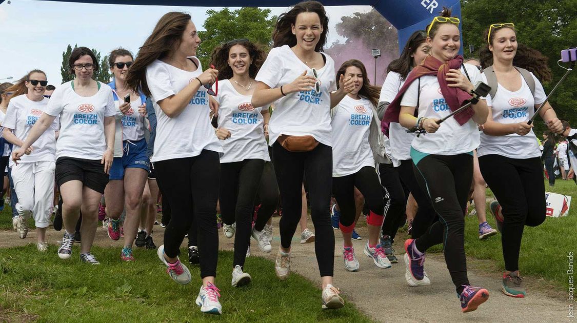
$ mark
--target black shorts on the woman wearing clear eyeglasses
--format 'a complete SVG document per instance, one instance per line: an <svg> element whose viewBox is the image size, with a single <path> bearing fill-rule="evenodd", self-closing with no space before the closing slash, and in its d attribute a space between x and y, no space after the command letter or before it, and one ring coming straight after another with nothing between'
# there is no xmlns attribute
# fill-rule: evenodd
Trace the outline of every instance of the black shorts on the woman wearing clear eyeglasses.
<svg viewBox="0 0 577 323"><path fill-rule="evenodd" d="M59 157L56 160L56 183L60 187L69 181L80 181L83 186L104 194L108 184L108 174L100 160Z"/></svg>

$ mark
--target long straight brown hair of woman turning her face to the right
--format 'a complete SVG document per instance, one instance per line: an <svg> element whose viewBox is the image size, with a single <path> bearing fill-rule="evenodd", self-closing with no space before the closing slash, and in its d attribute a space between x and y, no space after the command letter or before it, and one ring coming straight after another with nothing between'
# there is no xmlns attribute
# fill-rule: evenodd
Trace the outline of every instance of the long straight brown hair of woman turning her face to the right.
<svg viewBox="0 0 577 323"><path fill-rule="evenodd" d="M126 87L134 92L141 89L146 96L151 96L146 81L147 66L156 59L167 57L180 44L190 19L190 14L183 12L169 12L160 18L128 69Z"/></svg>

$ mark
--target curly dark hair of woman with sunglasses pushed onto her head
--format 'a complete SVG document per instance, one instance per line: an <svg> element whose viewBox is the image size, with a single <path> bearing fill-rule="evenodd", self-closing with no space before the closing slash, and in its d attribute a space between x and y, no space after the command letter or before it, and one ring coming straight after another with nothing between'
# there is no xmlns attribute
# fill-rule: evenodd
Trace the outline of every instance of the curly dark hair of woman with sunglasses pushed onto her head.
<svg viewBox="0 0 577 323"><path fill-rule="evenodd" d="M249 66L249 76L250 78L256 77L260 66L263 65L264 58L266 54L264 50L258 45L250 42L246 39L235 39L222 46L216 47L211 54L211 64L215 66L218 70L218 78L221 80L227 80L233 77L233 69L228 65L228 52L230 48L235 45L241 45L245 47L249 52L250 66Z"/></svg>

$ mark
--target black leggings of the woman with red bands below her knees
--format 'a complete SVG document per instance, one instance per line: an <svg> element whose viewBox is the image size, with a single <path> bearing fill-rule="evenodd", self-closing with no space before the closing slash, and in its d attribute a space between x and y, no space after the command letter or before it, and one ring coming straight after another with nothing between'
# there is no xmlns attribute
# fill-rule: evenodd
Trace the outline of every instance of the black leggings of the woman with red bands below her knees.
<svg viewBox="0 0 577 323"><path fill-rule="evenodd" d="M369 206L370 214L367 222L372 225L382 226L385 204L383 201L383 189L379 183L379 176L374 167L365 166L361 170L351 175L333 177L332 193L335 196L336 203L340 208L339 223L343 227L351 227L355 223L355 187L365 197L365 205ZM379 224L371 218L373 214L379 216ZM371 223L373 221L373 223ZM349 232L352 232L353 228ZM345 229L342 229L343 232Z"/></svg>

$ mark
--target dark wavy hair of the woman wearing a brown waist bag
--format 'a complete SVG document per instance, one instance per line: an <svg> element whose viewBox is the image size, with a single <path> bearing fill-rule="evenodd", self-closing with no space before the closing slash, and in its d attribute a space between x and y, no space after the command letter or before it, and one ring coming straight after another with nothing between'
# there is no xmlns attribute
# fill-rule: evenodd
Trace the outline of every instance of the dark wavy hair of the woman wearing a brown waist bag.
<svg viewBox="0 0 577 323"><path fill-rule="evenodd" d="M314 51L323 51L327 44L328 17L324 6L318 1L303 1L297 3L293 9L280 14L276 20L275 30L272 32L272 47L288 45L293 47L297 44L297 37L293 35L292 27L297 22L297 16L303 12L314 12L319 15L323 32L319 38L319 43L314 47Z"/></svg>

